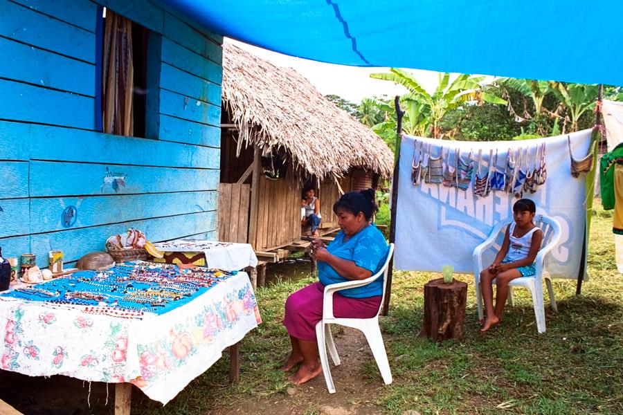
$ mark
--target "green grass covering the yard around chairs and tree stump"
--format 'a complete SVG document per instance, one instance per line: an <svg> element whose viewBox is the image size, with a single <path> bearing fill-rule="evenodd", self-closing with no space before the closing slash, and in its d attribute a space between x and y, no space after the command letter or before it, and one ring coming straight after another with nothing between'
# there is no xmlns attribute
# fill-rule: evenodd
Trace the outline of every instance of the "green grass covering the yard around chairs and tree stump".
<svg viewBox="0 0 623 415"><path fill-rule="evenodd" d="M464 339L437 343L419 338L422 286L433 276L396 271L390 313L381 320L394 382L367 398L386 414L407 409L420 414L622 414L623 276L616 272L611 226L611 212L597 210L590 279L579 296L575 281L554 280L559 313L546 310L548 330L542 335L536 333L530 293L521 289L514 292L516 305L507 308L504 322L481 335L473 279L459 275L469 284ZM289 385L278 369L289 351L281 325L283 304L289 293L313 280L258 288L264 322L242 342L239 384L228 382L225 353L166 407L138 398L133 413L200 414L225 402L235 407L250 398L284 398ZM364 382L380 383L372 361L361 374Z"/></svg>

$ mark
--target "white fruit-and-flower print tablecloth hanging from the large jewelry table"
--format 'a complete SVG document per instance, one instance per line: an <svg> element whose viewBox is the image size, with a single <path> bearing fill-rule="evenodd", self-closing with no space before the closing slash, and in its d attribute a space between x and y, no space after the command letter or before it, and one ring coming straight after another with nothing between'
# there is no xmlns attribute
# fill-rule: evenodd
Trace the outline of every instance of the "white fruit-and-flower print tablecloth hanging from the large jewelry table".
<svg viewBox="0 0 623 415"><path fill-rule="evenodd" d="M0 299L2 369L132 382L165 404L262 322L246 273L163 315L125 319Z"/></svg>

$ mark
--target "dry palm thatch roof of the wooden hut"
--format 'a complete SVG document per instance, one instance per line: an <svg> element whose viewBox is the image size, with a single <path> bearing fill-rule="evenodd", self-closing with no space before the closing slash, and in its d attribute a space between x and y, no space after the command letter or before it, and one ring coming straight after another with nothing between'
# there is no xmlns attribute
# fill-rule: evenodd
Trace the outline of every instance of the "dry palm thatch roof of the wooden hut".
<svg viewBox="0 0 623 415"><path fill-rule="evenodd" d="M343 176L350 167L390 176L393 155L385 142L293 69L224 43L222 88L239 151L243 141L263 154L285 149L296 171L320 179Z"/></svg>

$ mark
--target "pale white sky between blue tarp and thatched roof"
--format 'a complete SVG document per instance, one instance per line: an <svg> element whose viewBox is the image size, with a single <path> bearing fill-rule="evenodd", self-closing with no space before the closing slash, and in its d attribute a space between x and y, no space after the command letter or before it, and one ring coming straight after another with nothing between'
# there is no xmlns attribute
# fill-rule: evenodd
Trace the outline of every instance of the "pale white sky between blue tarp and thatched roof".
<svg viewBox="0 0 623 415"><path fill-rule="evenodd" d="M312 85L323 95L339 95L341 98L359 104L362 98L373 96L402 95L407 92L406 88L393 82L375 80L370 77L370 73L388 72L389 68L360 68L358 66L344 66L335 64L325 64L323 62L301 59L282 55L271 50L258 48L233 39L226 39L244 50L248 50L254 55L272 62L276 66L294 68L298 73L306 77ZM409 69L415 73L416 79L424 86L427 91L435 89L437 86L437 72L420 71Z"/></svg>

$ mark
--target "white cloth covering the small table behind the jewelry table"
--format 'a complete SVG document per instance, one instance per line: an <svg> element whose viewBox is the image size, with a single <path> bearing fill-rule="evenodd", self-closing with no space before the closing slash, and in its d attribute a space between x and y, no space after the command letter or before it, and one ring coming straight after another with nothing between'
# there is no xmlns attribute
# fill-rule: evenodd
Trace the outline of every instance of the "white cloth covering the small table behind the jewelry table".
<svg viewBox="0 0 623 415"><path fill-rule="evenodd" d="M208 268L234 271L258 265L258 257L249 243L176 239L154 243L154 246L165 252L204 252Z"/></svg>

